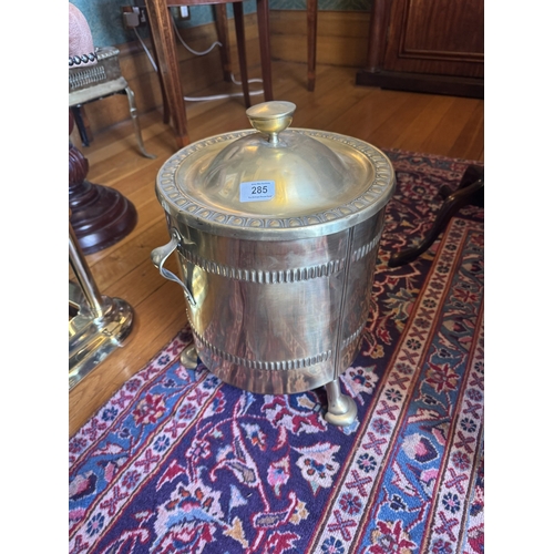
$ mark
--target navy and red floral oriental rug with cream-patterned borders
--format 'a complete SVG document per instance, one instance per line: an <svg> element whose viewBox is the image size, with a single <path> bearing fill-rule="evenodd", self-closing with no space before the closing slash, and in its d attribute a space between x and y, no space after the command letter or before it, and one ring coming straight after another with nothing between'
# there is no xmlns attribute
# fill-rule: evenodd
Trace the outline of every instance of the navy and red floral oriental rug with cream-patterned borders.
<svg viewBox="0 0 554 554"><path fill-rule="evenodd" d="M71 553L484 551L483 208L388 266L481 164L386 153L398 186L341 376L357 420L327 423L325 389L253 394L186 369L184 328L70 439Z"/></svg>

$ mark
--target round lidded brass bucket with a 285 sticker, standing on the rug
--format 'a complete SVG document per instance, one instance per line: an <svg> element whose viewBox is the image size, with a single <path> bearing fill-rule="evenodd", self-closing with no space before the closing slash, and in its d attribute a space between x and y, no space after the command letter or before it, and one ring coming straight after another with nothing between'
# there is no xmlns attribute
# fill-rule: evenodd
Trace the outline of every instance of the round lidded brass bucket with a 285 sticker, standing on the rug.
<svg viewBox="0 0 554 554"><path fill-rule="evenodd" d="M288 129L296 106L247 110L255 127L174 154L156 195L171 242L152 252L184 290L198 357L223 381L256 393L325 386L327 421L347 425L340 392L370 312L388 157L336 133ZM176 252L179 277L164 267Z"/></svg>

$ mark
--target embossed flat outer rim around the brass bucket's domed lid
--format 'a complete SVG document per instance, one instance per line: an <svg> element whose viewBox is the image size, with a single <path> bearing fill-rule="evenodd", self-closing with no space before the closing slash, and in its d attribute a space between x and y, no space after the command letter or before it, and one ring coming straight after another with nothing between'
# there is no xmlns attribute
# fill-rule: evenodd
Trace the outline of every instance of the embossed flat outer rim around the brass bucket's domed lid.
<svg viewBox="0 0 554 554"><path fill-rule="evenodd" d="M254 134L256 131L238 131L215 135L198 141L175 153L157 174L156 193L162 207L177 223L203 232L236 238L288 240L337 233L357 225L383 208L394 192L396 177L389 158L373 145L338 133L289 129L314 138L336 141L365 155L375 168L375 178L362 194L331 209L300 217L265 217L225 213L203 204L198 198L184 193L176 183L177 170L192 154L207 146Z"/></svg>

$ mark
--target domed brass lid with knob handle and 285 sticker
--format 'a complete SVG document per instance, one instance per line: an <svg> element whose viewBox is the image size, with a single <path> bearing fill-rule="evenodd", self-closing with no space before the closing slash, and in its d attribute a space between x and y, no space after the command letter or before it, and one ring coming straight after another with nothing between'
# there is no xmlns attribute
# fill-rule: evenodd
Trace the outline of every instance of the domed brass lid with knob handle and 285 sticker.
<svg viewBox="0 0 554 554"><path fill-rule="evenodd" d="M184 147L160 170L164 209L208 233L294 239L336 233L371 217L394 191L375 146L337 133L288 129L295 104L247 110L254 131Z"/></svg>

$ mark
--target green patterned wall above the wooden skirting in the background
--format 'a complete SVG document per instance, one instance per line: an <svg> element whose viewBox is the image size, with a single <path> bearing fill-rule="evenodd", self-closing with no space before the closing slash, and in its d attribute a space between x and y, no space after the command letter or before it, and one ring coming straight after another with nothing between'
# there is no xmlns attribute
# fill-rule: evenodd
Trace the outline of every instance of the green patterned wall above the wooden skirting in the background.
<svg viewBox="0 0 554 554"><path fill-rule="evenodd" d="M330 11L368 11L372 0L319 0L319 10ZM133 6L131 0L74 0L71 3L79 8L89 22L95 47L110 47L136 40L133 30L123 28L121 7ZM269 0L271 10L305 10L306 0ZM193 6L189 8L191 19L179 23L179 27L197 27L214 21L212 6ZM256 0L245 2L245 13L256 11ZM232 17L232 8L228 6ZM147 32L138 29L142 38Z"/></svg>

